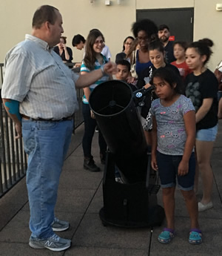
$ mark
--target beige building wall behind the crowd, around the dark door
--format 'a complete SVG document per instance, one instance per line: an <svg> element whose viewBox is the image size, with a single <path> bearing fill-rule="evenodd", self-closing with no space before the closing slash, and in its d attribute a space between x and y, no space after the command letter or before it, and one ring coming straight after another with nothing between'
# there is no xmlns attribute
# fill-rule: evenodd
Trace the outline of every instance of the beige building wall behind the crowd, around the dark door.
<svg viewBox="0 0 222 256"><path fill-rule="evenodd" d="M135 22L137 9L194 7L194 40L209 37L215 42L209 68L214 69L222 59L222 12L215 10L218 0L120 0L120 4L118 0L111 0L110 6L106 6L104 2L105 0L92 0L92 3L90 0L0 0L0 62L4 62L7 50L24 39L25 33L31 33L33 13L41 4L50 4L60 10L67 46L72 47L75 34L81 33L86 38L90 29L100 29L110 47L112 60L121 51L125 37L132 36L130 29ZM72 49L74 61L80 62L82 51Z"/></svg>

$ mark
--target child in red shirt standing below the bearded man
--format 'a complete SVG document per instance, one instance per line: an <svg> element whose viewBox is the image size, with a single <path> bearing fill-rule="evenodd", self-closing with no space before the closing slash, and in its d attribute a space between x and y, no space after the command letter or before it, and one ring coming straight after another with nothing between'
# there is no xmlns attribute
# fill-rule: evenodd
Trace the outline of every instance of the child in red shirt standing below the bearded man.
<svg viewBox="0 0 222 256"><path fill-rule="evenodd" d="M172 65L178 68L181 77L185 77L192 72L186 65L186 52L187 44L186 42L175 42L173 45L173 55L175 56L175 62L171 62Z"/></svg>

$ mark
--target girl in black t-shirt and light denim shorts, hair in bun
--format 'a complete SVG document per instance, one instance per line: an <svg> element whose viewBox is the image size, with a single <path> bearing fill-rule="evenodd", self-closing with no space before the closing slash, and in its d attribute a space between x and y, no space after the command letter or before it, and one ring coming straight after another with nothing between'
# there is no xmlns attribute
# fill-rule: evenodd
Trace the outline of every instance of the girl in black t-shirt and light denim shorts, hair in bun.
<svg viewBox="0 0 222 256"><path fill-rule="evenodd" d="M212 208L213 174L210 165L213 145L218 133L218 80L215 74L206 68L212 54L213 42L210 39L192 42L186 49L186 64L193 71L186 76L186 96L192 100L196 111L195 151L198 170L201 171L203 197L198 203L198 210ZM197 171L198 171L197 170ZM195 189L198 187L196 173Z"/></svg>

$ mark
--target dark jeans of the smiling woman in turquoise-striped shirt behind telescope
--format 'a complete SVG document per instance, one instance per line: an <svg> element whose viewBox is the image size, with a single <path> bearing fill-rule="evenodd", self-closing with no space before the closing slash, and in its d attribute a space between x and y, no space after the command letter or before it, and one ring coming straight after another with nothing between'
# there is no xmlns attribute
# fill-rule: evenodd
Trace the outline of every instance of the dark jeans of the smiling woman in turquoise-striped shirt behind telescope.
<svg viewBox="0 0 222 256"><path fill-rule="evenodd" d="M84 137L82 140L82 148L84 151L84 157L92 158L92 137L95 132L96 120L91 117L89 104L82 103L82 114L84 116ZM104 155L107 151L107 143L104 140L101 131L98 129L98 145L100 148L100 154Z"/></svg>

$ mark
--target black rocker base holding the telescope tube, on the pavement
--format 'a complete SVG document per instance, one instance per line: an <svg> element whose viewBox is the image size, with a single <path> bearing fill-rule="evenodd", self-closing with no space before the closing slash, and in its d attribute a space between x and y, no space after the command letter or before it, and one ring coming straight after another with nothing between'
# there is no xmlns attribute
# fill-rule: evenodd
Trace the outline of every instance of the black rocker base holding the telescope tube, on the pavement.
<svg viewBox="0 0 222 256"><path fill-rule="evenodd" d="M103 197L104 207L99 216L104 226L141 228L161 226L165 214L158 205L156 171L151 169L151 156L147 154L147 179L135 183L115 181L115 157L107 152L104 169ZM146 170L145 170L146 171Z"/></svg>

